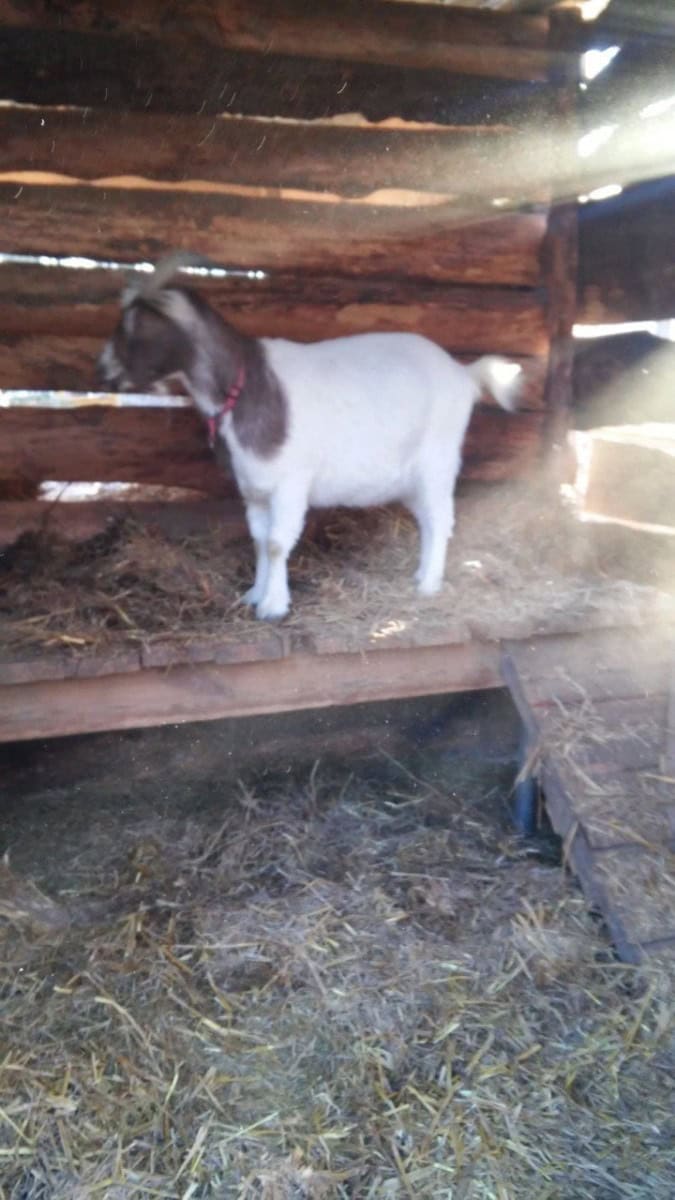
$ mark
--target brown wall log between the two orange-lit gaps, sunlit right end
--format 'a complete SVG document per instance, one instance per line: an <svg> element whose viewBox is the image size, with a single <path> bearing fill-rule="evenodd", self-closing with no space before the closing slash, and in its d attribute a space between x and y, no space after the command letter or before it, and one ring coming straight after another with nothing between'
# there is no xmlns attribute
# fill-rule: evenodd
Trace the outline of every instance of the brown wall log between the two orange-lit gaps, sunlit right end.
<svg viewBox="0 0 675 1200"><path fill-rule="evenodd" d="M552 138L531 128L389 121L279 121L41 106L0 109L4 176L58 174L92 182L124 176L227 192L232 185L364 197L405 190L510 208L550 194ZM546 149L549 154L546 155ZM1 176L0 176L1 178ZM424 196L422 197L424 199ZM461 199L460 199L461 204Z"/></svg>

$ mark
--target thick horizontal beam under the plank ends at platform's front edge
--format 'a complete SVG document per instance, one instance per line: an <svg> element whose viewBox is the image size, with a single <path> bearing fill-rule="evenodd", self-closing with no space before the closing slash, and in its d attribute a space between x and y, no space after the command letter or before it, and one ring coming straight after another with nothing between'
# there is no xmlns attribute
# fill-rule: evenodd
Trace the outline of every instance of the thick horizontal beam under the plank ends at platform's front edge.
<svg viewBox="0 0 675 1200"><path fill-rule="evenodd" d="M496 644L294 655L0 688L0 742L497 686Z"/></svg>

